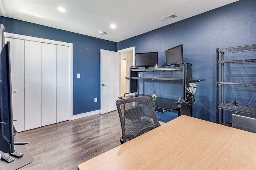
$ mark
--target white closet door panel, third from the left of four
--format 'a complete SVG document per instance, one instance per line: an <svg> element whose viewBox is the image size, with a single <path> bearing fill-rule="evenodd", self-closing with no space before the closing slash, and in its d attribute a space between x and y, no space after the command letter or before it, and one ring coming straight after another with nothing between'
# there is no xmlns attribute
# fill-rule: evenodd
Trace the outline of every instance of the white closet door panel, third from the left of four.
<svg viewBox="0 0 256 170"><path fill-rule="evenodd" d="M42 126L56 123L56 45L42 43Z"/></svg>

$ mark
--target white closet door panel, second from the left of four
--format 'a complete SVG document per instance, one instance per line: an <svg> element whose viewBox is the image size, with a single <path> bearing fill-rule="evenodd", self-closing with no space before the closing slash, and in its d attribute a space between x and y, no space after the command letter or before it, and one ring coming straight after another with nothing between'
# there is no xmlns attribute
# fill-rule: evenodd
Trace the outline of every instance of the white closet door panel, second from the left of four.
<svg viewBox="0 0 256 170"><path fill-rule="evenodd" d="M42 126L42 45L25 41L25 130Z"/></svg>

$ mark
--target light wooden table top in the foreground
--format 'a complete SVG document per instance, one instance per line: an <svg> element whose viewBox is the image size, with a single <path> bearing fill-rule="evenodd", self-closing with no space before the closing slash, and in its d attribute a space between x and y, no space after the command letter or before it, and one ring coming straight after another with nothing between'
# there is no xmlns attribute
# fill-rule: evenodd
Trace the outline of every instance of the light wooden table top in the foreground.
<svg viewBox="0 0 256 170"><path fill-rule="evenodd" d="M256 134L181 115L78 170L256 170Z"/></svg>

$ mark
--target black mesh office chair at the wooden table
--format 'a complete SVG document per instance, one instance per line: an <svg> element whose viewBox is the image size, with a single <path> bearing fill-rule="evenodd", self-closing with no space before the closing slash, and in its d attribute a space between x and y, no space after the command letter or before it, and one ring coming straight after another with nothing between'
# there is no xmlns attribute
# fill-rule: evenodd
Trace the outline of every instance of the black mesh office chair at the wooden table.
<svg viewBox="0 0 256 170"><path fill-rule="evenodd" d="M117 100L116 106L122 127L120 143L130 141L160 126L148 96Z"/></svg>

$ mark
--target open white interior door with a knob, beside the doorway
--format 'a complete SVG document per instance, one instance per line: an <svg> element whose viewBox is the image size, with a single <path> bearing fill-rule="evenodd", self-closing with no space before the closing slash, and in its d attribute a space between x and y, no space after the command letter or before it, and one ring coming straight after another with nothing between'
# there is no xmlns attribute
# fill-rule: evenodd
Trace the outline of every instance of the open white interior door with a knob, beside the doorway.
<svg viewBox="0 0 256 170"><path fill-rule="evenodd" d="M100 50L101 114L116 110L119 96L119 53Z"/></svg>

